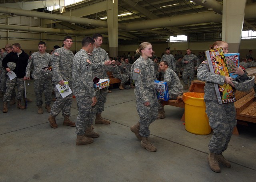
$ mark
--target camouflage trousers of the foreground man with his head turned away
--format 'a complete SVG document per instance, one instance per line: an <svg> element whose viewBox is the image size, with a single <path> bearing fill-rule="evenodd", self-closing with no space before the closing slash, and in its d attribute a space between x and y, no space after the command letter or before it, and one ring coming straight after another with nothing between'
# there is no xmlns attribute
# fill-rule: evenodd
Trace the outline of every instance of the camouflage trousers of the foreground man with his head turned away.
<svg viewBox="0 0 256 182"><path fill-rule="evenodd" d="M76 134L84 135L86 128L91 126L92 98L89 96L76 96L78 115L76 118Z"/></svg>

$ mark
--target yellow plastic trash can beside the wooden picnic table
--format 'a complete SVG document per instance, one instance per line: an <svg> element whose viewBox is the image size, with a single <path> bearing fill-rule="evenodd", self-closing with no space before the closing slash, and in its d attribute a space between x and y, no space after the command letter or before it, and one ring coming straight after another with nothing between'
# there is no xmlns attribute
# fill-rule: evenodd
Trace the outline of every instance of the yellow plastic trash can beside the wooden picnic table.
<svg viewBox="0 0 256 182"><path fill-rule="evenodd" d="M183 94L185 103L185 129L196 135L208 135L212 129L205 112L204 93L186 92Z"/></svg>

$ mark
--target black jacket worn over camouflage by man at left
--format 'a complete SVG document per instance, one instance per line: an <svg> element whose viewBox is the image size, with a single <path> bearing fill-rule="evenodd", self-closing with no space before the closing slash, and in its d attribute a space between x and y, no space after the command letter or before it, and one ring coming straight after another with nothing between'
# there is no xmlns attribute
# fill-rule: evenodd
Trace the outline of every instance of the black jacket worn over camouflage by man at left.
<svg viewBox="0 0 256 182"><path fill-rule="evenodd" d="M26 67L28 65L28 55L22 50L22 53L18 56L17 53L10 52L3 59L2 65L6 69L8 62L16 63L16 67L13 70L17 75L17 78L23 78L26 75Z"/></svg>

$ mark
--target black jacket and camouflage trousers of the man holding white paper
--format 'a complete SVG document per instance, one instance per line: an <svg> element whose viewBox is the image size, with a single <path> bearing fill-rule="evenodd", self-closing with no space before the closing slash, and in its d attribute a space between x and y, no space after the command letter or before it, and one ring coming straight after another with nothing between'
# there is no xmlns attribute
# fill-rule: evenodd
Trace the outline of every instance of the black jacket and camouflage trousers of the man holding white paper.
<svg viewBox="0 0 256 182"><path fill-rule="evenodd" d="M17 100L23 99L23 92L24 92L24 76L26 75L26 67L28 65L28 55L23 50L21 50L22 53L19 55L14 52L10 52L6 57L3 59L2 65L4 69L7 68L8 62L14 62L16 63L16 67L13 70L15 74L17 75L16 78L10 80L9 76L6 81L6 92L4 94L4 102L8 102L11 99L12 92L15 88L15 85L17 86Z"/></svg>

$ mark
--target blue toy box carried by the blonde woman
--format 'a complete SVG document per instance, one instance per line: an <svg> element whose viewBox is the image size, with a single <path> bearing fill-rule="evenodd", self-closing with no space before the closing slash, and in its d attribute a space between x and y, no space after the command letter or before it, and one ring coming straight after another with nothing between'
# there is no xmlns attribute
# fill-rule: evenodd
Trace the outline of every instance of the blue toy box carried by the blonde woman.
<svg viewBox="0 0 256 182"><path fill-rule="evenodd" d="M154 80L154 88L156 90L156 96L159 100L164 100L164 101L169 100L167 82Z"/></svg>

